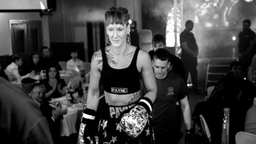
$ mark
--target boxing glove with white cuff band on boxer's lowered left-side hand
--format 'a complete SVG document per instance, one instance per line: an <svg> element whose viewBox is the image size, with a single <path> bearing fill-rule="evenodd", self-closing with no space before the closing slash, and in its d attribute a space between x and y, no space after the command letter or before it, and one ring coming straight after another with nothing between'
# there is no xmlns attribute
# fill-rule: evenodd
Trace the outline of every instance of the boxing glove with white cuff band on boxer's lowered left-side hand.
<svg viewBox="0 0 256 144"><path fill-rule="evenodd" d="M99 143L99 138L93 133L95 114L96 111L89 108L83 111L82 122L78 133L79 144Z"/></svg>

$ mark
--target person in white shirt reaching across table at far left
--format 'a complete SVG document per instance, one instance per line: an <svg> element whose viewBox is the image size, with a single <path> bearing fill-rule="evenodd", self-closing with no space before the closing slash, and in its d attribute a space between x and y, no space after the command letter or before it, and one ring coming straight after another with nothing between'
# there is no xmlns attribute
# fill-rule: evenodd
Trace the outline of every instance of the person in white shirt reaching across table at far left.
<svg viewBox="0 0 256 144"><path fill-rule="evenodd" d="M9 81L13 82L18 82L20 83L23 78L29 78L32 75L35 75L35 71L31 71L31 73L28 73L24 76L20 76L19 73L19 67L22 65L23 61L19 57L19 55L13 55L12 57L12 63L6 67L4 70L5 74L8 76Z"/></svg>

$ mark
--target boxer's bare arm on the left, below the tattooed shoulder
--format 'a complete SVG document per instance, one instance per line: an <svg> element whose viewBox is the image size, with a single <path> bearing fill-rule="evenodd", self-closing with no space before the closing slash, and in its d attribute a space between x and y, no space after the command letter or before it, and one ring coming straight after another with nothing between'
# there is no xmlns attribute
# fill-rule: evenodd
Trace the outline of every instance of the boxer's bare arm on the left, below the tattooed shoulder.
<svg viewBox="0 0 256 144"><path fill-rule="evenodd" d="M90 84L87 95L86 108L97 110L99 103L99 82L100 82L100 68L102 63L102 57L100 51L97 51L93 54L91 60L91 71L90 71ZM101 59L101 60L100 60Z"/></svg>

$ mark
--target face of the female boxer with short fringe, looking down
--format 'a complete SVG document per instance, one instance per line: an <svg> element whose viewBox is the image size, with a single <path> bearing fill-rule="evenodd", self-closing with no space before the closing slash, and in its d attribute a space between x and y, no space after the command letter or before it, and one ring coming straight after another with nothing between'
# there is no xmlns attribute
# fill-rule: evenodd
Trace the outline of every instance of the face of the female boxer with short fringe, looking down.
<svg viewBox="0 0 256 144"><path fill-rule="evenodd" d="M130 25L113 24L107 26L107 35L114 47L120 47L126 43L126 36L130 33Z"/></svg>

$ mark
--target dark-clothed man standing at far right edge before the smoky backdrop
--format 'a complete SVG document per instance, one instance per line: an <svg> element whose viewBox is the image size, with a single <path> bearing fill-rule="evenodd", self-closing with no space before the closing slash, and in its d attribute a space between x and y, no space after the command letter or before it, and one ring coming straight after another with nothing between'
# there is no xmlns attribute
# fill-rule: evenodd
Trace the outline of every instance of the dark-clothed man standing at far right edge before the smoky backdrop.
<svg viewBox="0 0 256 144"><path fill-rule="evenodd" d="M242 75L245 77L247 68L250 66L255 50L252 49L253 42L255 41L255 33L250 29L251 20L246 19L243 21L243 31L239 33L238 38L238 56L239 62L242 64Z"/></svg>

